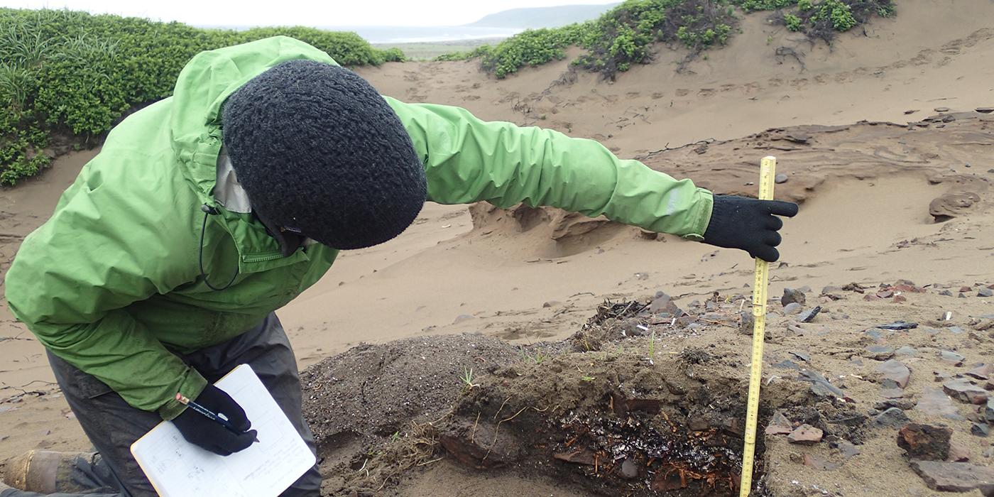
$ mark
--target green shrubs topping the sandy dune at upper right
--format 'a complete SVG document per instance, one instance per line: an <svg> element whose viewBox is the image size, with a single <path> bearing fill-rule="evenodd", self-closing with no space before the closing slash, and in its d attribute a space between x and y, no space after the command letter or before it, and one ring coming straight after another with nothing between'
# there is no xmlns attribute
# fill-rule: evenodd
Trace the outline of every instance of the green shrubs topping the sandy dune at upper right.
<svg viewBox="0 0 994 497"><path fill-rule="evenodd" d="M735 6L746 12L778 11L776 19L790 31L826 42L873 15L894 14L893 0L627 0L593 21L529 30L485 51L435 60L479 58L480 67L500 79L525 66L563 59L574 45L586 50L574 64L613 79L633 64L651 61L658 42L676 42L695 53L727 44L737 24Z"/></svg>

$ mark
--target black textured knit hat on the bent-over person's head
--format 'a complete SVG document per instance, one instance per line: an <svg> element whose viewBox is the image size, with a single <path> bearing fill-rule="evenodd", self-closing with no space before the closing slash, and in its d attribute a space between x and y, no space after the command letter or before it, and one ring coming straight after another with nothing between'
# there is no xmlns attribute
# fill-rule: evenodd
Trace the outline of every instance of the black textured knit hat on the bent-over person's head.
<svg viewBox="0 0 994 497"><path fill-rule="evenodd" d="M282 63L232 93L221 118L252 209L280 227L332 248L372 247L400 235L424 204L411 137L349 70Z"/></svg>

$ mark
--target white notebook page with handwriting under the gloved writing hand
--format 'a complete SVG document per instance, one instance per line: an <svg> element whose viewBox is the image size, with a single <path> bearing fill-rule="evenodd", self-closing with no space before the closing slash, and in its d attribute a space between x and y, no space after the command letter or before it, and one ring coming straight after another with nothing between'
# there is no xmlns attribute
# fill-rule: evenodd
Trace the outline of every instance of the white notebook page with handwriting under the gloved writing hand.
<svg viewBox="0 0 994 497"><path fill-rule="evenodd" d="M131 444L159 495L275 497L314 465L314 454L248 365L217 383L248 414L258 442L229 456L211 453L163 421Z"/></svg>

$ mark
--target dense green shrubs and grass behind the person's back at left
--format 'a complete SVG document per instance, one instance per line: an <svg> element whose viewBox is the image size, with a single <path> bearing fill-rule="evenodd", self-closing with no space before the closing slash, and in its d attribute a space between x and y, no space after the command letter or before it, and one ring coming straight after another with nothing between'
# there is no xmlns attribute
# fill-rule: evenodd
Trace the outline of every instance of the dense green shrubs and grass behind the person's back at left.
<svg viewBox="0 0 994 497"><path fill-rule="evenodd" d="M355 33L305 27L199 29L181 23L68 10L0 8L0 184L37 174L53 131L76 144L105 133L130 108L172 93L200 52L276 35L327 52L343 66L404 61Z"/></svg>

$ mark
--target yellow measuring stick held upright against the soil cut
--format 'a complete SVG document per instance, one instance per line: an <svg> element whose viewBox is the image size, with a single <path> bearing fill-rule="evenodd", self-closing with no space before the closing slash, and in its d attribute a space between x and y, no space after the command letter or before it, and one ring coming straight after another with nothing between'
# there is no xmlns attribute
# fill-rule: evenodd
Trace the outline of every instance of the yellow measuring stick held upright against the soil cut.
<svg viewBox="0 0 994 497"><path fill-rule="evenodd" d="M776 157L763 157L759 163L759 200L773 200L773 176ZM739 496L748 497L752 489L752 465L755 454L755 428L759 415L759 386L762 383L762 338L766 332L766 285L769 263L756 257L755 280L752 281L752 358L748 374L748 405L745 411L745 446L743 474Z"/></svg>

